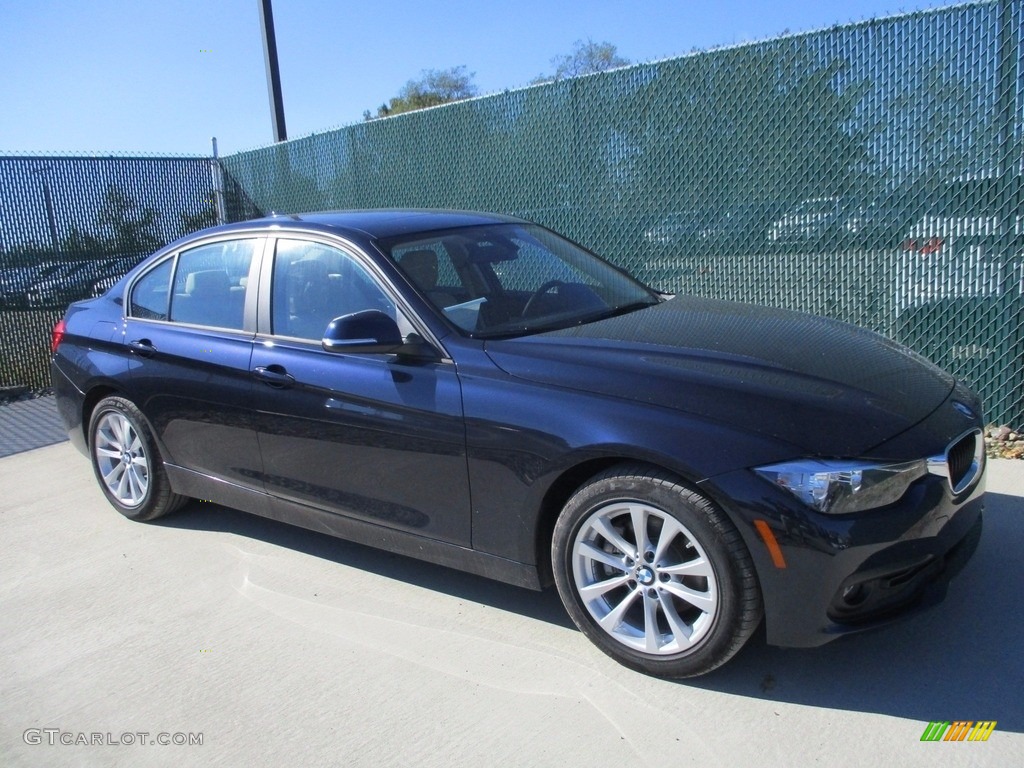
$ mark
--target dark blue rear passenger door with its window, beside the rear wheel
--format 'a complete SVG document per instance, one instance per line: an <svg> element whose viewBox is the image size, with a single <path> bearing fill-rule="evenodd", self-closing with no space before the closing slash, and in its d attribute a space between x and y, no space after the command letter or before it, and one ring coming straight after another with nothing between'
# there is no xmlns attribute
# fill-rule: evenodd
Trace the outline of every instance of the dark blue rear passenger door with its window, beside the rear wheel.
<svg viewBox="0 0 1024 768"><path fill-rule="evenodd" d="M125 342L137 404L165 461L262 489L249 362L265 238L173 254L129 289Z"/></svg>

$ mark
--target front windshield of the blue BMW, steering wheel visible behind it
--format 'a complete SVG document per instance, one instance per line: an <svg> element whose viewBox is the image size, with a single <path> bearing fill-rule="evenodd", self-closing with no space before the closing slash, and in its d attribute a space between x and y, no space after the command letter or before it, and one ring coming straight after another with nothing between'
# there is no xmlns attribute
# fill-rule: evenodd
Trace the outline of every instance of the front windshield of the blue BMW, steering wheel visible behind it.
<svg viewBox="0 0 1024 768"><path fill-rule="evenodd" d="M382 246L450 323L476 338L567 328L660 300L534 224L464 227Z"/></svg>

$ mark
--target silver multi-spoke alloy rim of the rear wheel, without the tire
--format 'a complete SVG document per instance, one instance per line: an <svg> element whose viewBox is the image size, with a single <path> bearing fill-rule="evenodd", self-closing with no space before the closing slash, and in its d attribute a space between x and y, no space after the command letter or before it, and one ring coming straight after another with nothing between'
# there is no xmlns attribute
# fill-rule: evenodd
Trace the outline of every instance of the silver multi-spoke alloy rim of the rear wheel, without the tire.
<svg viewBox="0 0 1024 768"><path fill-rule="evenodd" d="M108 492L125 507L142 504L150 488L150 459L135 425L118 412L103 414L92 450Z"/></svg>

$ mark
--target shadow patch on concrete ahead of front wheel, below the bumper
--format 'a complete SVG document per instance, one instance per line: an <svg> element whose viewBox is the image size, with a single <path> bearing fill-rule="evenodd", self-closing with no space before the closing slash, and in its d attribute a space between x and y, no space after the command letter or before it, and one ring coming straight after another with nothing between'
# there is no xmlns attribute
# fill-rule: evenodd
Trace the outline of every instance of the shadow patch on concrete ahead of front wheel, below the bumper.
<svg viewBox="0 0 1024 768"><path fill-rule="evenodd" d="M944 602L819 648L773 648L763 631L689 685L922 721L995 720L1024 732L1024 600L1019 497L986 495L978 551Z"/></svg>

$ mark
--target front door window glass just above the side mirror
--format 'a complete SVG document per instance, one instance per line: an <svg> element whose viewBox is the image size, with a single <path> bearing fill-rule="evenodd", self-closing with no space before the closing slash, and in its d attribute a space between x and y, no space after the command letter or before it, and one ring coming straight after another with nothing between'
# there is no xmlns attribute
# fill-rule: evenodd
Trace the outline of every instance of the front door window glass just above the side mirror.
<svg viewBox="0 0 1024 768"><path fill-rule="evenodd" d="M271 297L272 332L319 341L331 321L378 309L398 319L393 302L351 255L306 240L278 241Z"/></svg>

